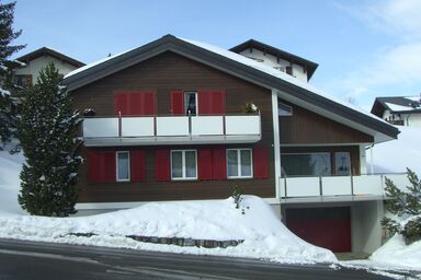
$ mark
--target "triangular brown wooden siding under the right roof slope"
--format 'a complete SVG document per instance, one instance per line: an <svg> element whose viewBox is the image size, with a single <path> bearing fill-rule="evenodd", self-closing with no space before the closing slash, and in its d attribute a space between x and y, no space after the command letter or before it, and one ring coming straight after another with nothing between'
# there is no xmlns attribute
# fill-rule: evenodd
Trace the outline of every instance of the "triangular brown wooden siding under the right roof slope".
<svg viewBox="0 0 421 280"><path fill-rule="evenodd" d="M280 117L281 144L369 143L372 136L346 127L308 109L280 101L293 116Z"/></svg>

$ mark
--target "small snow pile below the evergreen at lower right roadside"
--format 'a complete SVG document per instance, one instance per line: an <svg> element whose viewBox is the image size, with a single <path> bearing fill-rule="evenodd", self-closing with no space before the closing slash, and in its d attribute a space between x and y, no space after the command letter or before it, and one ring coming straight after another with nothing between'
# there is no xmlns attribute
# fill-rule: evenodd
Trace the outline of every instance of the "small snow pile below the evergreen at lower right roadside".
<svg viewBox="0 0 421 280"><path fill-rule="evenodd" d="M402 235L395 234L385 245L378 248L369 259L374 262L394 267L421 269L421 241L406 245Z"/></svg>

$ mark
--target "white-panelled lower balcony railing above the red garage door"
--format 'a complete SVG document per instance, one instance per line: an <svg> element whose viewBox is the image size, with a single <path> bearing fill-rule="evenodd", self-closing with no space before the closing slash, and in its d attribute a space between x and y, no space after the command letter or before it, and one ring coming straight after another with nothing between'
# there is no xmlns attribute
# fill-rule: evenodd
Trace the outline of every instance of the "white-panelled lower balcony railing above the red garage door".
<svg viewBox="0 0 421 280"><path fill-rule="evenodd" d="M385 198L385 177L406 189L407 174L280 178L281 201L355 201Z"/></svg>

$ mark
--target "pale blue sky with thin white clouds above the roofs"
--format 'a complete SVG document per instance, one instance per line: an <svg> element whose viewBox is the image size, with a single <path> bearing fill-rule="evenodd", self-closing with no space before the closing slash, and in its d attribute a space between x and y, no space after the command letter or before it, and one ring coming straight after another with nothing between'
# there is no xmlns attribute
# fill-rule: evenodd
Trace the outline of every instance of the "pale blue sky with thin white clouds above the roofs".
<svg viewBox="0 0 421 280"><path fill-rule="evenodd" d="M420 0L18 0L13 26L16 56L46 46L90 63L166 34L253 38L317 62L312 85L368 110L421 93Z"/></svg>

